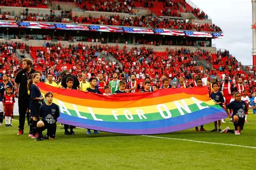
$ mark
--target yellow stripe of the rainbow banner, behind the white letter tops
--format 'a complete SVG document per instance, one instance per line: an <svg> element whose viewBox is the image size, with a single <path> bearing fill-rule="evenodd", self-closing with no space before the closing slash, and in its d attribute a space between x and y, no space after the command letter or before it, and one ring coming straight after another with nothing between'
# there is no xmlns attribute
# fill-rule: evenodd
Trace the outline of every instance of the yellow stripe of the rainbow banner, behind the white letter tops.
<svg viewBox="0 0 256 170"><path fill-rule="evenodd" d="M202 102L194 98L194 100L197 101L198 104L201 104ZM151 114L155 112L159 112L159 108L164 111L164 107L166 106L169 110L183 108L183 110L189 109L188 106L191 104L195 104L195 101L193 98L185 98L183 100L174 101L174 102L168 102L158 105L150 105L147 107L133 107L133 108L116 108L116 109L109 109L109 108L91 108L93 110L94 114L97 115L113 115L114 113L117 113L118 115L124 115L125 110L129 110L132 115L137 115L138 112L140 113L143 111L143 114ZM88 107L82 106L82 105L75 105L75 108L73 107L72 103L67 103L61 101L59 103L59 100L56 98L53 99L53 103L56 103L58 105L64 105L65 108L70 110L79 110L79 112L85 112L90 113L91 110L89 110ZM209 100L207 102L204 102L208 105L214 105L215 103L212 100ZM192 112L192 111L191 111Z"/></svg>

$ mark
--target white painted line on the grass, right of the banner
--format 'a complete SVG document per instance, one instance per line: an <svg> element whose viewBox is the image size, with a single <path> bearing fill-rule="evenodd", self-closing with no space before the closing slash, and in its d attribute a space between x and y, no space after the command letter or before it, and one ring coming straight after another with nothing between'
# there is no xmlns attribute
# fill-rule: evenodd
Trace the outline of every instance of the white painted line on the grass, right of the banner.
<svg viewBox="0 0 256 170"><path fill-rule="evenodd" d="M159 139L169 139L169 140L182 140L182 141L191 141L196 143L203 143L203 144L213 144L213 145L226 145L226 146L236 146L236 147L246 147L246 148L254 148L255 146L243 146L243 145L234 145L234 144L223 144L223 143L215 143L215 142L208 142L208 141L198 141L198 140L190 140L190 139L179 139L179 138L166 138L166 137L158 137L158 136L149 136L149 135L142 135L143 137L149 138L159 138Z"/></svg>

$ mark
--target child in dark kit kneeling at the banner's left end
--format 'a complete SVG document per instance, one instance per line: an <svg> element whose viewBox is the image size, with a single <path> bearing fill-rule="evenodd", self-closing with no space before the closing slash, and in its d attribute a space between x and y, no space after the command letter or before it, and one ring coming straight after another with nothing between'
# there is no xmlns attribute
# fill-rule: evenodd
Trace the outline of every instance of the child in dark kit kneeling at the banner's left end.
<svg viewBox="0 0 256 170"><path fill-rule="evenodd" d="M56 134L56 122L59 117L59 107L57 104L52 103L53 94L51 92L46 93L44 97L46 99L46 103L43 104L39 110L42 120L37 122L38 137L36 141L41 141L43 138L54 140ZM45 129L47 129L47 134L43 137L43 131Z"/></svg>

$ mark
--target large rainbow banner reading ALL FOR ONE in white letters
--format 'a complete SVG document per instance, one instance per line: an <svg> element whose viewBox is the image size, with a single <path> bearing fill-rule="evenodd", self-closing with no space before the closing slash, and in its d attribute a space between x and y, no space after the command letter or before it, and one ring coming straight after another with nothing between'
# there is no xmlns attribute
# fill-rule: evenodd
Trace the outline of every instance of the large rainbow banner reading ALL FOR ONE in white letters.
<svg viewBox="0 0 256 170"><path fill-rule="evenodd" d="M227 117L209 100L207 87L161 89L152 93L109 97L38 83L42 94L53 93L58 122L126 134L156 134L190 129Z"/></svg>

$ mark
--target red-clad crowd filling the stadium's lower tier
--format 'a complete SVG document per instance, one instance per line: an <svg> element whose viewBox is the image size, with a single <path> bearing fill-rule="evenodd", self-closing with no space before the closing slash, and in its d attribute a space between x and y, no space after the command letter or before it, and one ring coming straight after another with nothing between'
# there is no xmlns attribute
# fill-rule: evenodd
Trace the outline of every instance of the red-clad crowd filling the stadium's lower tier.
<svg viewBox="0 0 256 170"><path fill-rule="evenodd" d="M194 75L201 77L217 76L224 79L226 75L235 81L239 77L246 80L248 88L252 90L254 77L246 74L242 70L242 65L228 51L217 51L210 53L205 50L191 52L186 48L168 49L164 52L156 52L153 48L126 46L119 48L109 45L78 45L62 46L51 42L45 42L43 47L28 47L24 43L2 42L0 44L2 74L8 74L11 81L18 70L22 68L21 61L16 58L16 49L29 48L33 59L33 68L44 71L46 74L55 75L55 81L61 79L62 71L69 70L72 74L80 77L80 73L85 71L90 76L97 76L102 73L106 81L110 81L114 72L120 74L120 79L127 79L132 73L135 73L137 79L144 79L150 76L153 82L157 82L160 77L167 76L170 80L177 80L178 77L185 77L186 83L193 81ZM118 62L107 62L99 54L111 54L123 65ZM193 59L205 59L212 63L213 68L204 69ZM44 77L44 76L43 76ZM42 77L42 79L44 79Z"/></svg>

